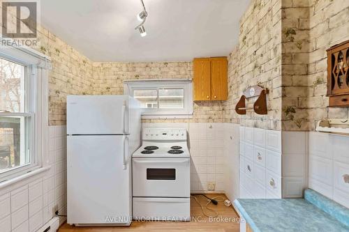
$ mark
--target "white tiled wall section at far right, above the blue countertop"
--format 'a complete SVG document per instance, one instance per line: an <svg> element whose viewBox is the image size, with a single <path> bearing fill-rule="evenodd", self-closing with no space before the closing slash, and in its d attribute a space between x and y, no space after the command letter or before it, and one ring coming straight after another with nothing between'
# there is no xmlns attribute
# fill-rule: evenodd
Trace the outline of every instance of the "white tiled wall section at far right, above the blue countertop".
<svg viewBox="0 0 349 232"><path fill-rule="evenodd" d="M349 208L349 137L309 132L309 187Z"/></svg>

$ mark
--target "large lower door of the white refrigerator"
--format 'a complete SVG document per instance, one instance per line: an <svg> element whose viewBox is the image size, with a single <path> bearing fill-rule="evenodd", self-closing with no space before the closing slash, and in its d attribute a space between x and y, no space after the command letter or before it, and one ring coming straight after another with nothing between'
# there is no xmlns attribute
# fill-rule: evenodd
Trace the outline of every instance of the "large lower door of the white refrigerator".
<svg viewBox="0 0 349 232"><path fill-rule="evenodd" d="M130 163L126 136L68 136L68 224L130 224Z"/></svg>

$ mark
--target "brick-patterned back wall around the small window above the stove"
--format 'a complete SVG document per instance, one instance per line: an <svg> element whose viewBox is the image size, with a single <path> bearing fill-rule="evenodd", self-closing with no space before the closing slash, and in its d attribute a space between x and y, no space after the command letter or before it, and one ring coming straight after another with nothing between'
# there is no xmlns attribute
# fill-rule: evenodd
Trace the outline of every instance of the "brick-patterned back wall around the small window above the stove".
<svg viewBox="0 0 349 232"><path fill-rule="evenodd" d="M124 80L129 79L192 79L191 62L94 63L94 94L123 94ZM144 123L221 123L222 102L194 102L191 119L148 119Z"/></svg>

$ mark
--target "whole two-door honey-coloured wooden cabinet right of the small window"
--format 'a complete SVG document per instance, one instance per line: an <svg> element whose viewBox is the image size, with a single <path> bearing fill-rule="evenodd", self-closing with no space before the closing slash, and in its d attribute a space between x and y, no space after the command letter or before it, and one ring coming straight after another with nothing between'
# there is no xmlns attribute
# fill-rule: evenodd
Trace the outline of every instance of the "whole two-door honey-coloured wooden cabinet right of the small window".
<svg viewBox="0 0 349 232"><path fill-rule="evenodd" d="M227 58L195 58L193 86L195 101L228 100Z"/></svg>

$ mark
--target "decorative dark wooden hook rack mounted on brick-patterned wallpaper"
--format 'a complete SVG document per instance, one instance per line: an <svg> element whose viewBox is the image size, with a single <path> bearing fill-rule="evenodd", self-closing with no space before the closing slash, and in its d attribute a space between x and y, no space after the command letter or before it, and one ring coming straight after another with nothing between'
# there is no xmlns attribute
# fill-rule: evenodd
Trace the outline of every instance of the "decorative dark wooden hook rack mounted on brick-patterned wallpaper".
<svg viewBox="0 0 349 232"><path fill-rule="evenodd" d="M235 111L237 111L237 114L246 114L246 110L253 109L256 114L267 114L267 93L269 93L267 88L262 88L258 85L246 88L244 95L237 102ZM254 102L253 107L246 107L246 98L257 96L258 99Z"/></svg>

